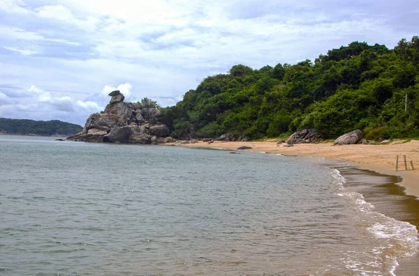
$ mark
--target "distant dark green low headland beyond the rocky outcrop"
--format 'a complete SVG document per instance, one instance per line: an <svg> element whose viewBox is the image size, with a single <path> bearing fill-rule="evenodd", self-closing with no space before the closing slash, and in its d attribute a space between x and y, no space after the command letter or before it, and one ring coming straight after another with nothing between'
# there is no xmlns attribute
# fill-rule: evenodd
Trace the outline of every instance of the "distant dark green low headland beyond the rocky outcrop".
<svg viewBox="0 0 419 276"><path fill-rule="evenodd" d="M15 135L74 135L82 131L80 125L61 121L32 121L0 118L0 132Z"/></svg>

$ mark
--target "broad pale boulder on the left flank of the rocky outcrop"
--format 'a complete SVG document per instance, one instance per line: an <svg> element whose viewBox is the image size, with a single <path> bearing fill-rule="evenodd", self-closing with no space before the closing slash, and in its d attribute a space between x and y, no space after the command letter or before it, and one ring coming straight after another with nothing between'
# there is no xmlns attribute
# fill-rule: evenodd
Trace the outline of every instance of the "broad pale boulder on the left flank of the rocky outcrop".
<svg viewBox="0 0 419 276"><path fill-rule="evenodd" d="M87 134L92 128L104 130L108 133L112 128L123 125L126 125L126 121L116 114L94 113L87 119L82 133Z"/></svg>

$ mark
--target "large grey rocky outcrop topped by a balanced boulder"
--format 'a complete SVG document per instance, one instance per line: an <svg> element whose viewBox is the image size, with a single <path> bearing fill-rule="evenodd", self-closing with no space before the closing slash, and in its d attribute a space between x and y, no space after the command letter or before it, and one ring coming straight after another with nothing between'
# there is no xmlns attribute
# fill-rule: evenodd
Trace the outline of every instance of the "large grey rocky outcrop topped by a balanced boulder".
<svg viewBox="0 0 419 276"><path fill-rule="evenodd" d="M97 141L129 144L163 144L175 141L168 127L159 123L156 108L140 108L124 102L120 91L109 93L110 104L101 113L89 116L82 132L68 137L71 141Z"/></svg>

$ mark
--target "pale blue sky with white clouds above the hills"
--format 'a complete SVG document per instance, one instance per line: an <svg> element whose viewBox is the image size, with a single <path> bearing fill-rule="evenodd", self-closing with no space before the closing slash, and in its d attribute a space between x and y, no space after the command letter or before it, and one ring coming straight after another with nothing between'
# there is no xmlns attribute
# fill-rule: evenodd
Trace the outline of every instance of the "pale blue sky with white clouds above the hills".
<svg viewBox="0 0 419 276"><path fill-rule="evenodd" d="M417 0L0 0L0 117L84 125L118 89L175 105L207 76L419 35Z"/></svg>

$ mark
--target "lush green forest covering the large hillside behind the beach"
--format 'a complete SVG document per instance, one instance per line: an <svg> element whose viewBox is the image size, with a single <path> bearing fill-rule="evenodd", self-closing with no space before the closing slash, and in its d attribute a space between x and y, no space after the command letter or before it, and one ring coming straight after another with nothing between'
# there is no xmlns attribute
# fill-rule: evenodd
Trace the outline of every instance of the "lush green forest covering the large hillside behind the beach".
<svg viewBox="0 0 419 276"><path fill-rule="evenodd" d="M419 38L394 49L353 42L314 63L233 66L162 113L174 137L258 139L302 128L325 138L355 129L367 139L419 137Z"/></svg>

